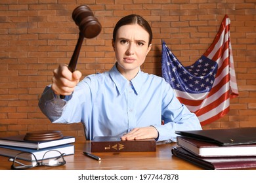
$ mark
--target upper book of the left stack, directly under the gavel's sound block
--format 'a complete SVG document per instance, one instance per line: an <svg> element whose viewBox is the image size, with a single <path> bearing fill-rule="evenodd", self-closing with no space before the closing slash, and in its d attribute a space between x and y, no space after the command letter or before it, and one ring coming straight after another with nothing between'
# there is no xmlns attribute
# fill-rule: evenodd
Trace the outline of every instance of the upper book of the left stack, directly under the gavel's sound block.
<svg viewBox="0 0 256 183"><path fill-rule="evenodd" d="M64 136L62 139L51 140L51 141L25 141L24 137L25 135L1 137L0 145L41 149L41 148L49 148L51 146L58 146L62 144L70 144L72 142L75 142L75 137L72 137L72 136Z"/></svg>

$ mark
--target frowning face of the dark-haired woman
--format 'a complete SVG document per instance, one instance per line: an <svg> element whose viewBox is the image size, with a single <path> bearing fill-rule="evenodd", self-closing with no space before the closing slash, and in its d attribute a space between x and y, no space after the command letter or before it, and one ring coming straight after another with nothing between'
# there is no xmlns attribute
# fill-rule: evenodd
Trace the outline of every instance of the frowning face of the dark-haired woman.
<svg viewBox="0 0 256 183"><path fill-rule="evenodd" d="M139 72L146 55L152 45L148 46L149 34L138 24L123 25L116 34L116 42L112 42L116 52L117 69L128 80Z"/></svg>

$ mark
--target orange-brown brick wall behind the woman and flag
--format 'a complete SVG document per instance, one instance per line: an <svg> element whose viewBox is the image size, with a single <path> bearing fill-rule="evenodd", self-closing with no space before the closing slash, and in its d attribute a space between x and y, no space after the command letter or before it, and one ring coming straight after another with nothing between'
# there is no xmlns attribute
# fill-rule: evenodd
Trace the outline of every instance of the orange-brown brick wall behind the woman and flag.
<svg viewBox="0 0 256 183"><path fill-rule="evenodd" d="M161 41L183 65L190 65L209 47L228 14L240 96L232 99L228 115L203 129L256 127L255 0L1 0L0 137L58 129L77 141L85 139L83 125L51 124L37 107L53 69L70 61L79 33L71 14L85 3L102 31L83 42L77 69L84 76L112 67L112 31L122 16L140 14L152 25L154 46L142 70L161 76Z"/></svg>

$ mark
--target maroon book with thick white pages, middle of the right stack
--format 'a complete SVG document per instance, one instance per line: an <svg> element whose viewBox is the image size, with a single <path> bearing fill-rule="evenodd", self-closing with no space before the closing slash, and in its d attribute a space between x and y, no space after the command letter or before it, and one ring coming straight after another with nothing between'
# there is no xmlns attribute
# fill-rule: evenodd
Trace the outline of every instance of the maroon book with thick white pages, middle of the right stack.
<svg viewBox="0 0 256 183"><path fill-rule="evenodd" d="M177 145L196 156L256 156L256 144L220 146L212 142L199 141L188 137L177 137Z"/></svg>

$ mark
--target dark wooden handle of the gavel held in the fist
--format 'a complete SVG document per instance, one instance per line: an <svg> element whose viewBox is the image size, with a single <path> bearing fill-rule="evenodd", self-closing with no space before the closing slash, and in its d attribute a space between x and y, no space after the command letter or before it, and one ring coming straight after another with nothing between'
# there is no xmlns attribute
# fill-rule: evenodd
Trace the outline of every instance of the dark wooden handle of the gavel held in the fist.
<svg viewBox="0 0 256 183"><path fill-rule="evenodd" d="M72 55L72 58L70 59L70 63L68 64L68 69L73 73L75 71L76 65L77 65L77 59L79 57L79 53L81 50L81 46L83 44L84 36L81 32L79 32L79 37L75 46L74 53ZM60 99L64 99L64 95L60 95Z"/></svg>

